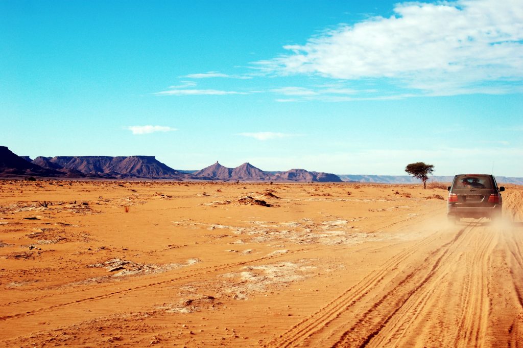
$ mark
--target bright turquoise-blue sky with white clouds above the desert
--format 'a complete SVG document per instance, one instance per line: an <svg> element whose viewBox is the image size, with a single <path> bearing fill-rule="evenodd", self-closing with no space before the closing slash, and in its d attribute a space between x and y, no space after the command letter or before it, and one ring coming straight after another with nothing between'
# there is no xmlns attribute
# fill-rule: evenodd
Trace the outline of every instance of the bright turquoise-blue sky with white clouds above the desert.
<svg viewBox="0 0 523 348"><path fill-rule="evenodd" d="M0 145L523 176L523 1L0 0Z"/></svg>

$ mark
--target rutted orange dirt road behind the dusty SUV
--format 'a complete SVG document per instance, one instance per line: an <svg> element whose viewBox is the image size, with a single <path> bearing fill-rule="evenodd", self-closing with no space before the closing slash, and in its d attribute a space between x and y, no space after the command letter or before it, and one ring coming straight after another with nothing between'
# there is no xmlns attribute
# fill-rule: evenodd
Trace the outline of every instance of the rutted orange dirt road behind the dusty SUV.
<svg viewBox="0 0 523 348"><path fill-rule="evenodd" d="M522 232L480 220L430 234L270 346L523 346Z"/></svg>

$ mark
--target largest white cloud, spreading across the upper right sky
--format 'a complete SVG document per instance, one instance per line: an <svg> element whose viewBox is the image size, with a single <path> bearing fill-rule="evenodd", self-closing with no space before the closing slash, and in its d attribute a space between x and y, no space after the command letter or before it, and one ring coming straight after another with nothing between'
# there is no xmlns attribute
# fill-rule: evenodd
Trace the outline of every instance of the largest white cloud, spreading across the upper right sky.
<svg viewBox="0 0 523 348"><path fill-rule="evenodd" d="M521 0L409 2L394 12L340 25L257 63L279 74L380 78L434 95L521 92Z"/></svg>

